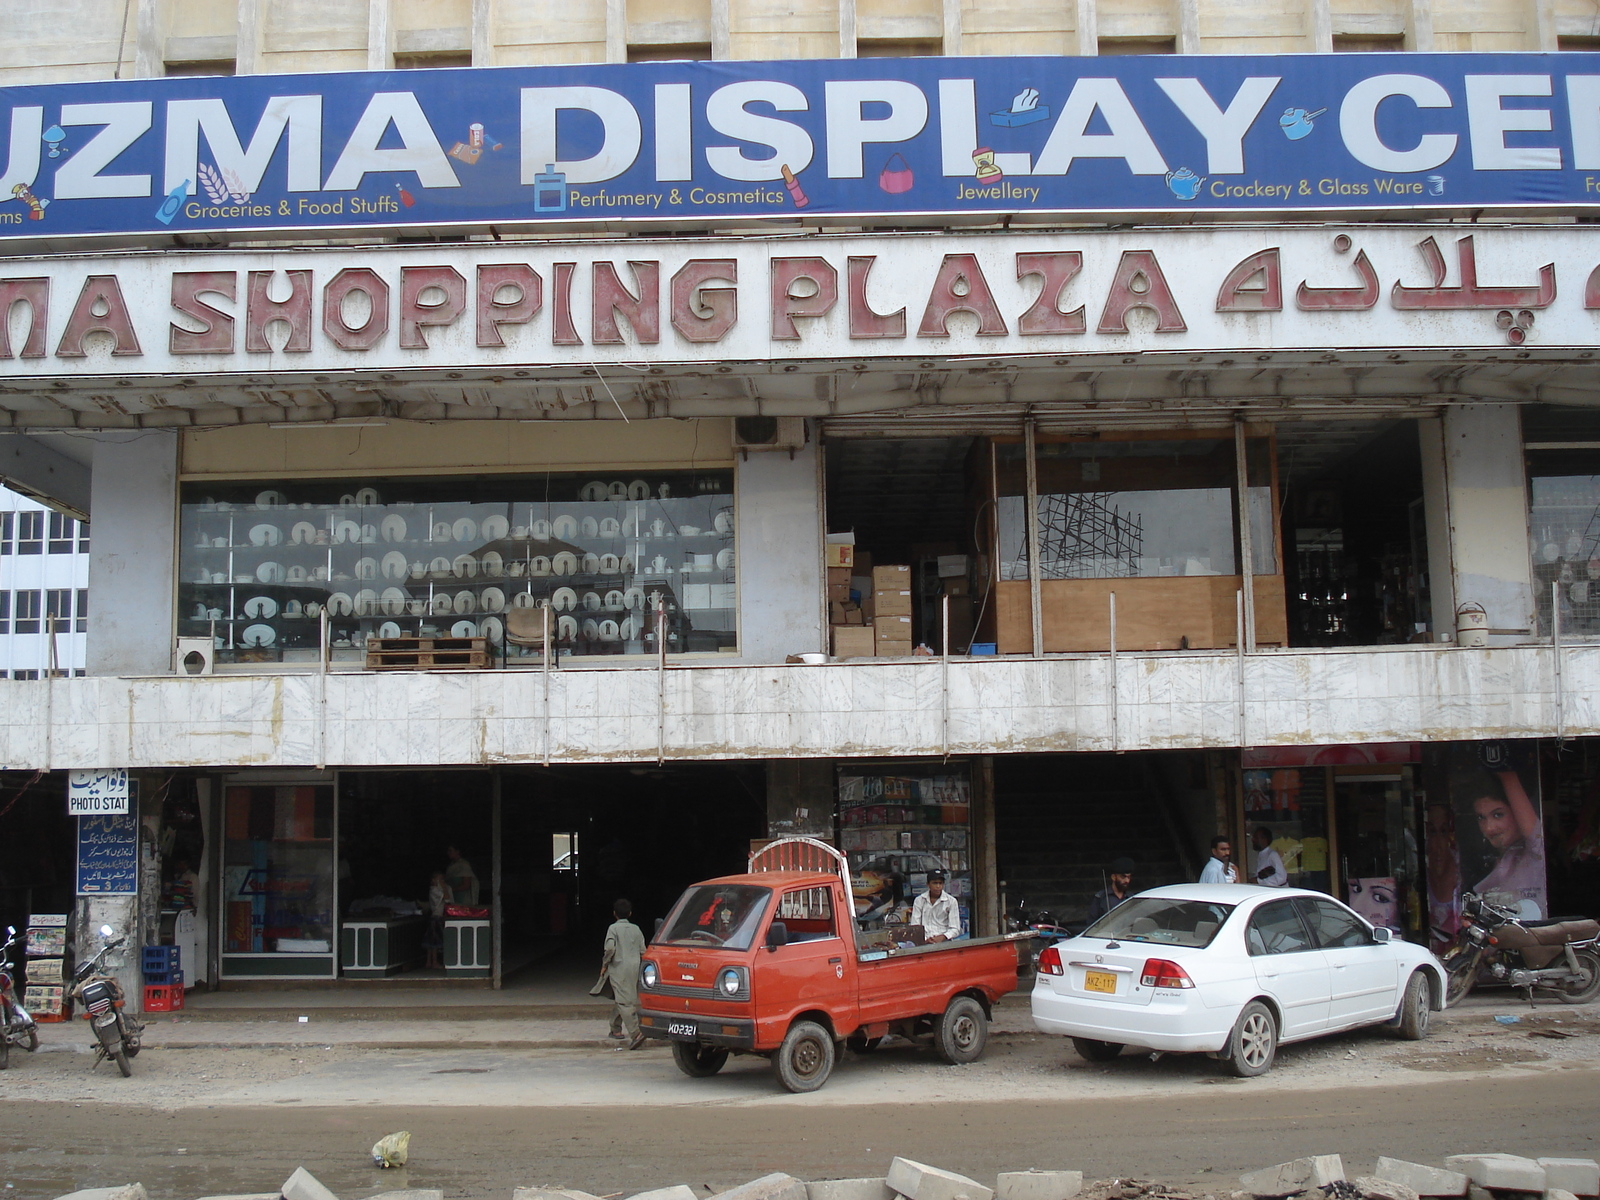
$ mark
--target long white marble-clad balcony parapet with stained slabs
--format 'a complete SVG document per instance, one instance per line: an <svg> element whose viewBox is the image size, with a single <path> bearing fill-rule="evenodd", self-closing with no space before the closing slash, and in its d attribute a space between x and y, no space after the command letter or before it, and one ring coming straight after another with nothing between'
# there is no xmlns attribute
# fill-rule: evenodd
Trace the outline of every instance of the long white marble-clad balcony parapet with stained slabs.
<svg viewBox="0 0 1600 1200"><path fill-rule="evenodd" d="M1600 733L1600 645L0 682L0 766L434 766Z"/></svg>

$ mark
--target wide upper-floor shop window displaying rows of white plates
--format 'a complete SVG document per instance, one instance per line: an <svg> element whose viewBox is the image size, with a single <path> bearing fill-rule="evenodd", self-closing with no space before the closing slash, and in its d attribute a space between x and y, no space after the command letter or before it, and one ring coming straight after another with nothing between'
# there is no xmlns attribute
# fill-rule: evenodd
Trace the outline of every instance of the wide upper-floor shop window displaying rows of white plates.
<svg viewBox="0 0 1600 1200"><path fill-rule="evenodd" d="M184 485L179 635L218 662L315 662L370 638L554 653L734 653L733 472ZM507 638L507 630L512 637Z"/></svg>

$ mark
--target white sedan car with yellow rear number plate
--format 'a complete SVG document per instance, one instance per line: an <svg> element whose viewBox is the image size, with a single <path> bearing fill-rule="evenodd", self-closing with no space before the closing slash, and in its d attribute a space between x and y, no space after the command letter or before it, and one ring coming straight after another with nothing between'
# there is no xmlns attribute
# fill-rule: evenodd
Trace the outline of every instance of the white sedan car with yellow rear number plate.
<svg viewBox="0 0 1600 1200"><path fill-rule="evenodd" d="M1427 1034L1445 968L1320 891L1190 883L1131 896L1038 957L1034 1024L1104 1062L1205 1051L1259 1075L1280 1043L1357 1026Z"/></svg>

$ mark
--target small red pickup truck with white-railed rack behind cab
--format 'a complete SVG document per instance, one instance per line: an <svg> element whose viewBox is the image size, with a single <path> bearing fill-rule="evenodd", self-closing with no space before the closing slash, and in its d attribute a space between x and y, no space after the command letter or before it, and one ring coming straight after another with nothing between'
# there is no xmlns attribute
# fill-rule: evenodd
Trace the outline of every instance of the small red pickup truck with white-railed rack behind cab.
<svg viewBox="0 0 1600 1200"><path fill-rule="evenodd" d="M994 1002L1016 987L1018 938L858 944L832 846L786 838L750 867L685 891L640 963L640 1029L669 1038L686 1075L762 1054L784 1088L816 1091L840 1043L864 1053L885 1034L931 1042L947 1062L984 1053Z"/></svg>

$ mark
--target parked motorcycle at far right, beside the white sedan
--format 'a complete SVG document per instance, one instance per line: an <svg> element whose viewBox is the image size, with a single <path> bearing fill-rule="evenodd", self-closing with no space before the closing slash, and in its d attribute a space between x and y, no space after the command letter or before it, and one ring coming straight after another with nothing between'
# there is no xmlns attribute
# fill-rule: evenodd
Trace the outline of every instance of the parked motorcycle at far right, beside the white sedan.
<svg viewBox="0 0 1600 1200"><path fill-rule="evenodd" d="M1522 987L1530 1005L1534 987L1570 1005L1587 1003L1600 995L1597 938L1600 922L1525 922L1515 909L1467 891L1461 896L1461 933L1445 955L1445 1003L1470 992L1485 965L1494 979Z"/></svg>

